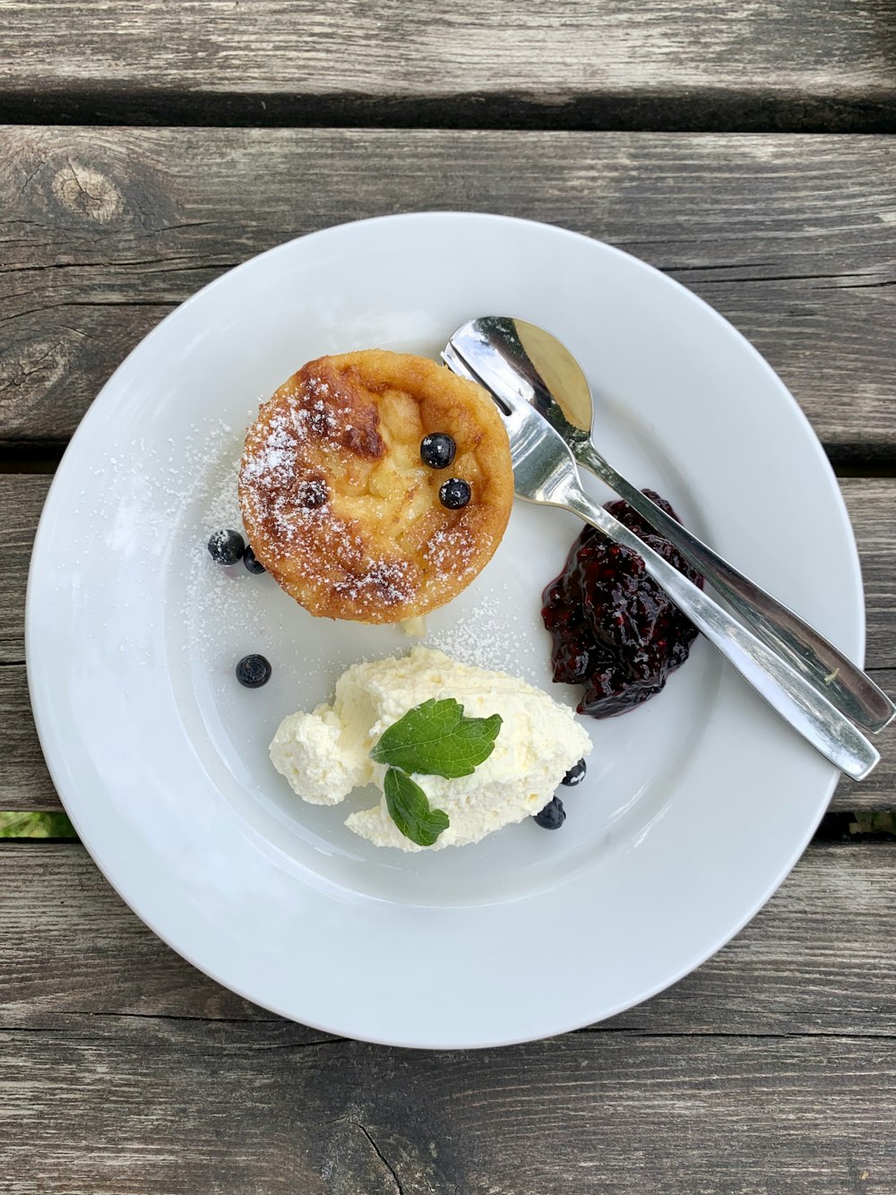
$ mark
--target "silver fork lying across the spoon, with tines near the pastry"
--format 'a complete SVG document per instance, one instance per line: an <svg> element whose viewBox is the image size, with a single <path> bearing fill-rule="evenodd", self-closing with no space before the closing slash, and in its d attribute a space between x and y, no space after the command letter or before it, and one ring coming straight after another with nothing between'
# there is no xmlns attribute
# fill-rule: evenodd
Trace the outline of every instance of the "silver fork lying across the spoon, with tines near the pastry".
<svg viewBox="0 0 896 1195"><path fill-rule="evenodd" d="M499 378L481 358L473 368L454 343L444 360L496 394ZM481 373L479 372L481 368ZM514 462L514 491L528 502L541 502L571 510L610 539L636 551L644 568L669 594L682 613L741 673L806 742L854 780L861 780L880 759L860 730L779 652L768 648L751 631L732 618L708 594L693 584L658 552L638 539L633 531L614 519L582 489L569 445L533 405L507 392L495 398L504 419Z"/></svg>

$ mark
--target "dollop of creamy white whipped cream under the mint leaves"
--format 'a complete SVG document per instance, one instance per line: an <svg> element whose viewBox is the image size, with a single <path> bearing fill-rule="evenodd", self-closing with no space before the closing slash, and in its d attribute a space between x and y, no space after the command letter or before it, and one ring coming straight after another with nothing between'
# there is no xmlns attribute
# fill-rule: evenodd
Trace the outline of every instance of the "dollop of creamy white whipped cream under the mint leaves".
<svg viewBox="0 0 896 1195"><path fill-rule="evenodd" d="M386 768L370 759L380 735L430 698L453 697L468 717L499 713L491 755L472 776L444 779L415 774L432 808L450 825L434 846L419 847L392 821L382 796ZM339 804L356 788L375 784L372 809L345 825L378 846L436 851L478 842L503 826L536 814L591 740L571 709L507 673L458 663L442 651L417 646L401 657L352 664L336 684L332 704L290 713L270 746L271 761L293 790L312 804Z"/></svg>

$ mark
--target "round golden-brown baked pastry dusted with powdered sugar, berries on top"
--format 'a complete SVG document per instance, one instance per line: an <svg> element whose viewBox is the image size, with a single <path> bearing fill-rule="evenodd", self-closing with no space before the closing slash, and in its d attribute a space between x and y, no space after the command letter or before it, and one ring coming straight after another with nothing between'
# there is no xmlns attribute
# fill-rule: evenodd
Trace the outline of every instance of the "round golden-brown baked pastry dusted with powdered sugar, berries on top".
<svg viewBox="0 0 896 1195"><path fill-rule="evenodd" d="M398 623L491 559L514 478L487 393L425 357L303 366L262 405L239 473L256 557L312 614Z"/></svg>

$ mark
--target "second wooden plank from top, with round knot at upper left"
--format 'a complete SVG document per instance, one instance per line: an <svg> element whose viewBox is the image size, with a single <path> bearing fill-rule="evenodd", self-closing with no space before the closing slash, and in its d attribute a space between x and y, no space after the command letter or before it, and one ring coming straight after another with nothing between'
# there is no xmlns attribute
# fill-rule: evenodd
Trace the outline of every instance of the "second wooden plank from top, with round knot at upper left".
<svg viewBox="0 0 896 1195"><path fill-rule="evenodd" d="M0 130L0 445L65 442L122 356L229 265L426 208L644 257L756 343L835 459L896 456L891 140L449 130Z"/></svg>

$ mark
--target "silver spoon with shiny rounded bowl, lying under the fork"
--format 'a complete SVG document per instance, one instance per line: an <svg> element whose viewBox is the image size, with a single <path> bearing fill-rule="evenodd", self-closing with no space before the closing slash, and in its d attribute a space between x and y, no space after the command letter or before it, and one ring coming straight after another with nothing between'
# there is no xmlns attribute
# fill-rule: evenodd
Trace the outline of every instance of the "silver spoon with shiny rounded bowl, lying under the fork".
<svg viewBox="0 0 896 1195"><path fill-rule="evenodd" d="M450 360L452 349L462 362ZM557 337L522 319L484 315L459 327L442 356L466 376L472 370L481 378L485 369L490 379L486 388L496 398L515 394L530 403L565 440L576 461L674 544L763 643L780 652L831 705L872 734L892 719L896 705L833 643L671 519L601 456L593 440L591 390L581 366Z"/></svg>

